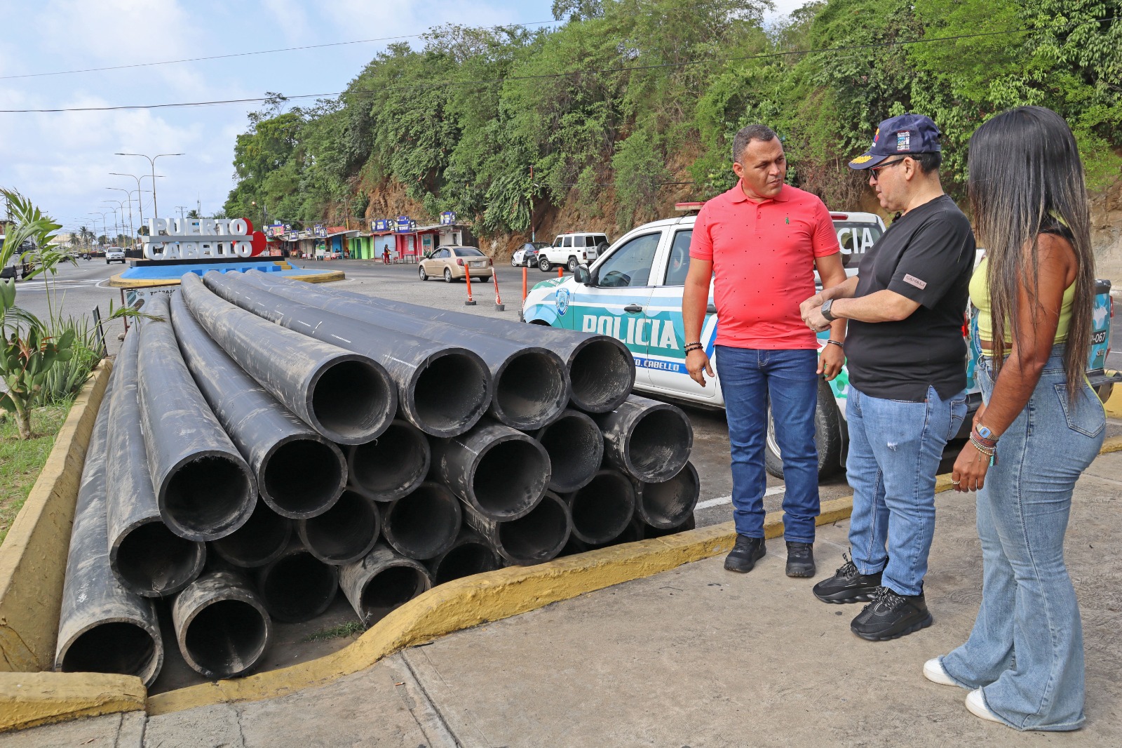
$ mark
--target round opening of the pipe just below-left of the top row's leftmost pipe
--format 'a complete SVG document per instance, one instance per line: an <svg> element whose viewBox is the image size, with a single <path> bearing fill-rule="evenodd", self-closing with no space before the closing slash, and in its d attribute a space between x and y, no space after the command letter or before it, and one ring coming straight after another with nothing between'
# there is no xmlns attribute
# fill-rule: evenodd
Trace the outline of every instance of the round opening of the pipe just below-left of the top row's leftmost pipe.
<svg viewBox="0 0 1122 748"><path fill-rule="evenodd" d="M338 453L322 441L293 439L269 456L261 493L293 518L321 511L344 482Z"/></svg>

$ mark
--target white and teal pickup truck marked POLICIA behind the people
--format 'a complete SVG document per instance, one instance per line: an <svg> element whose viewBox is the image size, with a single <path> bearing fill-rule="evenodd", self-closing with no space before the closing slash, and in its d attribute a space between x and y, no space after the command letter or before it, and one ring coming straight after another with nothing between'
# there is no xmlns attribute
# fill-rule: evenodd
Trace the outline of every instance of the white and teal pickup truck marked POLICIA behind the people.
<svg viewBox="0 0 1122 748"><path fill-rule="evenodd" d="M883 230L880 218L872 213L830 213L834 218L842 252L861 255ZM635 389L655 396L692 404L724 408L720 381L714 378L705 387L690 378L686 371L682 348L682 289L689 270L689 246L695 216L683 216L646 224L620 237L604 249L591 267L581 265L572 277L551 279L536 284L526 295L523 320L533 325L550 325L586 332L610 335L623 340L635 357ZM848 261L848 256L843 257ZM853 274L858 258L846 262ZM1113 302L1110 281L1098 281L1094 309L1094 332L1087 376L1101 399L1110 395L1114 377L1103 371L1110 344ZM709 308L701 328L701 344L714 357L717 335L712 285ZM819 336L825 345L827 334ZM967 367L972 411L981 402L974 384L974 367ZM827 476L845 465L846 398L849 390L846 368L833 382L819 382L815 438L818 444L819 474ZM966 437L971 419L964 421ZM770 423L764 453L767 472L782 476L783 463Z"/></svg>

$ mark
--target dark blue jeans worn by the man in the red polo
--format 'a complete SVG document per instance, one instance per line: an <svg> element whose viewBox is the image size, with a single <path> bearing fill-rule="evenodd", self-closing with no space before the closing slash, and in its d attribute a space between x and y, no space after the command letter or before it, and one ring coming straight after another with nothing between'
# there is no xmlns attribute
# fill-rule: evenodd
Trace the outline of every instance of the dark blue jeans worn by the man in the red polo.
<svg viewBox="0 0 1122 748"><path fill-rule="evenodd" d="M817 370L816 350L717 346L717 376L725 395L733 457L733 520L737 535L764 537L764 439L770 400L787 486L783 537L797 542L815 541L815 518L819 513Z"/></svg>

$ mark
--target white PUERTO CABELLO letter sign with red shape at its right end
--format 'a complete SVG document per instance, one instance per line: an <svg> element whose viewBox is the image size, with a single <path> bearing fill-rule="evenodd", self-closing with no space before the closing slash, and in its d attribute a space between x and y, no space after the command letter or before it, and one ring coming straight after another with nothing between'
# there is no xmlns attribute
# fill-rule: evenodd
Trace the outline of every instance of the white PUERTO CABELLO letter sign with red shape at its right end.
<svg viewBox="0 0 1122 748"><path fill-rule="evenodd" d="M245 218L149 218L146 222L148 235L140 237L145 259L252 257L265 248L265 235L254 231Z"/></svg>

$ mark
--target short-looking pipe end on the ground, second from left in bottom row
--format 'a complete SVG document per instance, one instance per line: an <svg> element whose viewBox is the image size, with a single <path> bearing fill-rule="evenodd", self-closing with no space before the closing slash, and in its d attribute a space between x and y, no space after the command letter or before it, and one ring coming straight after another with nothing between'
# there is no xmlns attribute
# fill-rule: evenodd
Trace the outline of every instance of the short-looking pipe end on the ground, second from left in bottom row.
<svg viewBox="0 0 1122 748"><path fill-rule="evenodd" d="M272 628L257 593L233 572L212 572L191 583L172 605L172 622L183 659L214 679L252 668Z"/></svg>

